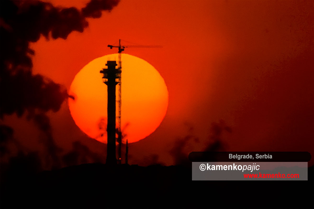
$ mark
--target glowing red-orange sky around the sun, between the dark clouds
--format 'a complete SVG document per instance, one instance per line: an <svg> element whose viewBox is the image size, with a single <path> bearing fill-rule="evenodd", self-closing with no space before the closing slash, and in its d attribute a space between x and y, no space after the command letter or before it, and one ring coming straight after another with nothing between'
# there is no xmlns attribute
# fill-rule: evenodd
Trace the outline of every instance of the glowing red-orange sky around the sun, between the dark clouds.
<svg viewBox="0 0 314 209"><path fill-rule="evenodd" d="M88 1L50 2L82 8ZM188 134L200 142L190 144L187 154L203 150L211 123L219 120L232 128L222 136L226 151L313 155L313 11L313 1L124 0L111 13L88 19L83 33L32 43L33 73L69 89L84 65L116 52L107 44L123 39L162 45L125 50L153 65L169 91L164 121L149 137L130 144L130 163L146 165L157 154L158 161L171 165L169 151L176 138ZM75 125L67 102L49 116L59 146L70 149L79 140L105 154L100 143ZM16 138L30 139L25 146L40 149L33 139L38 132L24 118L5 117L4 123L16 129Z"/></svg>

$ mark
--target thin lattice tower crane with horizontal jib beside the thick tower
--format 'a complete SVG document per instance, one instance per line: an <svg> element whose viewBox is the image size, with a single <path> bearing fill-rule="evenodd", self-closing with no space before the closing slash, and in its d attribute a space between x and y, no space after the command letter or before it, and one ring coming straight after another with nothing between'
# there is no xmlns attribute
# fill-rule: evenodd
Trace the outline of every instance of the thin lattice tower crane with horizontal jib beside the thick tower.
<svg viewBox="0 0 314 209"><path fill-rule="evenodd" d="M113 46L108 44L108 47L110 49L112 48L118 48L118 68L117 70L119 72L122 72L122 61L121 61L121 53L122 51L124 51L125 48L127 47L134 47L134 48L161 48L162 46L160 45L125 45L122 46L121 45L121 39L119 39L119 45L118 46ZM119 149L118 149L118 160L119 160L119 164L121 164L121 148L122 148L122 131L121 131L121 80L122 80L122 76L120 75L118 78L118 99L116 100L116 102L118 102L118 115L116 116L117 122L118 122L118 128L117 128L117 134L118 134L118 138L117 138L117 142L119 144Z"/></svg>

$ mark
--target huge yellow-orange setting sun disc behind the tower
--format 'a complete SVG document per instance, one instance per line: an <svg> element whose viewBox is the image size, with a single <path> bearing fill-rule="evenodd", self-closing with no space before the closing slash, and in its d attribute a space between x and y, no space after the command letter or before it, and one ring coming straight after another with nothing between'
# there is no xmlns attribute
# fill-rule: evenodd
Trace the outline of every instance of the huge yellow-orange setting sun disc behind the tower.
<svg viewBox="0 0 314 209"><path fill-rule="evenodd" d="M76 74L69 94L69 109L76 125L90 138L107 143L107 86L100 70L118 54L92 60ZM165 117L168 90L159 72L145 60L122 54L121 127L129 143L153 133Z"/></svg>

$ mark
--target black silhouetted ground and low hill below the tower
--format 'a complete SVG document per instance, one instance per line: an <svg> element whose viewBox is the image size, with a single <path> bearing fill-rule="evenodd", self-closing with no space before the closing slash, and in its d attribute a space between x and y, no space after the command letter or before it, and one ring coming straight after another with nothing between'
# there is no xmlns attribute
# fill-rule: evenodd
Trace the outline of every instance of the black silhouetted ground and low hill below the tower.
<svg viewBox="0 0 314 209"><path fill-rule="evenodd" d="M1 208L313 208L308 181L192 181L191 167L83 164L1 182Z"/></svg>

